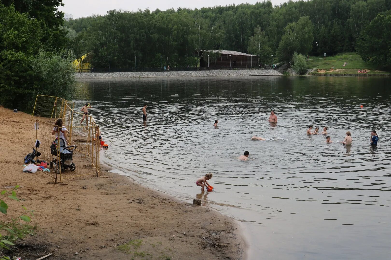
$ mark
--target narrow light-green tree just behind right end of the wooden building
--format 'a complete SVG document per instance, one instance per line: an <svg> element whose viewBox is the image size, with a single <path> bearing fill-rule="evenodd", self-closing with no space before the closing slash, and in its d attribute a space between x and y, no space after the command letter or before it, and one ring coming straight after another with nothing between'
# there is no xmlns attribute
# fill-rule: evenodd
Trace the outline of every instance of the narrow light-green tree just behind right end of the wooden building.
<svg viewBox="0 0 391 260"><path fill-rule="evenodd" d="M248 41L248 52L258 55L261 64L271 60L273 51L269 47L265 31L262 31L259 25L254 28L254 36L251 36Z"/></svg>

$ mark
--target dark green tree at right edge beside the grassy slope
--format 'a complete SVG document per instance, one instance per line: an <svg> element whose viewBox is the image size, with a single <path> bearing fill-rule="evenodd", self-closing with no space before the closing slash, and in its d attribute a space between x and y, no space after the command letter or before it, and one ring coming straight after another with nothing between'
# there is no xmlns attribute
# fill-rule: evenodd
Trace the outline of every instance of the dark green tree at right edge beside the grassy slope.
<svg viewBox="0 0 391 260"><path fill-rule="evenodd" d="M378 14L361 32L357 51L364 62L391 68L391 12Z"/></svg>

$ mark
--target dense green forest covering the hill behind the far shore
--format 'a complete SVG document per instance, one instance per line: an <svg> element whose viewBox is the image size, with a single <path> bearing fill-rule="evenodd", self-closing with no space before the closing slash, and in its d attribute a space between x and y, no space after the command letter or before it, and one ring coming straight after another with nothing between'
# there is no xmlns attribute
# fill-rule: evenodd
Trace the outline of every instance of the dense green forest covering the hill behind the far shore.
<svg viewBox="0 0 391 260"><path fill-rule="evenodd" d="M357 51L360 34L391 0L289 1L167 11L111 10L65 23L77 57L91 53L95 68L196 65L200 50L234 50L288 61L303 55Z"/></svg>

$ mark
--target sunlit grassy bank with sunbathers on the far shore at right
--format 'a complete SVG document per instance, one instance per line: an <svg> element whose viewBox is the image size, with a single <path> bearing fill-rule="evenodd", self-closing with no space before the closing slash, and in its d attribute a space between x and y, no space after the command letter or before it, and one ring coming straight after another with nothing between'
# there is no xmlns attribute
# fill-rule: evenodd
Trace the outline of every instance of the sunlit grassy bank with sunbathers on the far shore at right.
<svg viewBox="0 0 391 260"><path fill-rule="evenodd" d="M345 66L344 62L347 64ZM308 57L308 67L317 69L310 74L365 74L358 73L358 70L366 70L367 74L385 74L387 71L378 70L372 64L365 63L356 53L341 53L332 57Z"/></svg>

